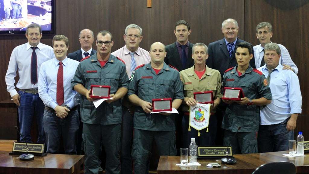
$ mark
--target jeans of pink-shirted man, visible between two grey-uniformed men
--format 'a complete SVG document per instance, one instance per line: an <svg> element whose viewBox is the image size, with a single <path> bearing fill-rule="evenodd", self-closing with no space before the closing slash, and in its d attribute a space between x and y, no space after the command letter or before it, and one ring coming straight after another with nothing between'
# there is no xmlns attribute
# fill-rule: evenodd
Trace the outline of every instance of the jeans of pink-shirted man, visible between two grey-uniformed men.
<svg viewBox="0 0 309 174"><path fill-rule="evenodd" d="M121 174L132 174L131 149L133 141L133 115L127 107L122 107L122 135L121 135Z"/></svg>

